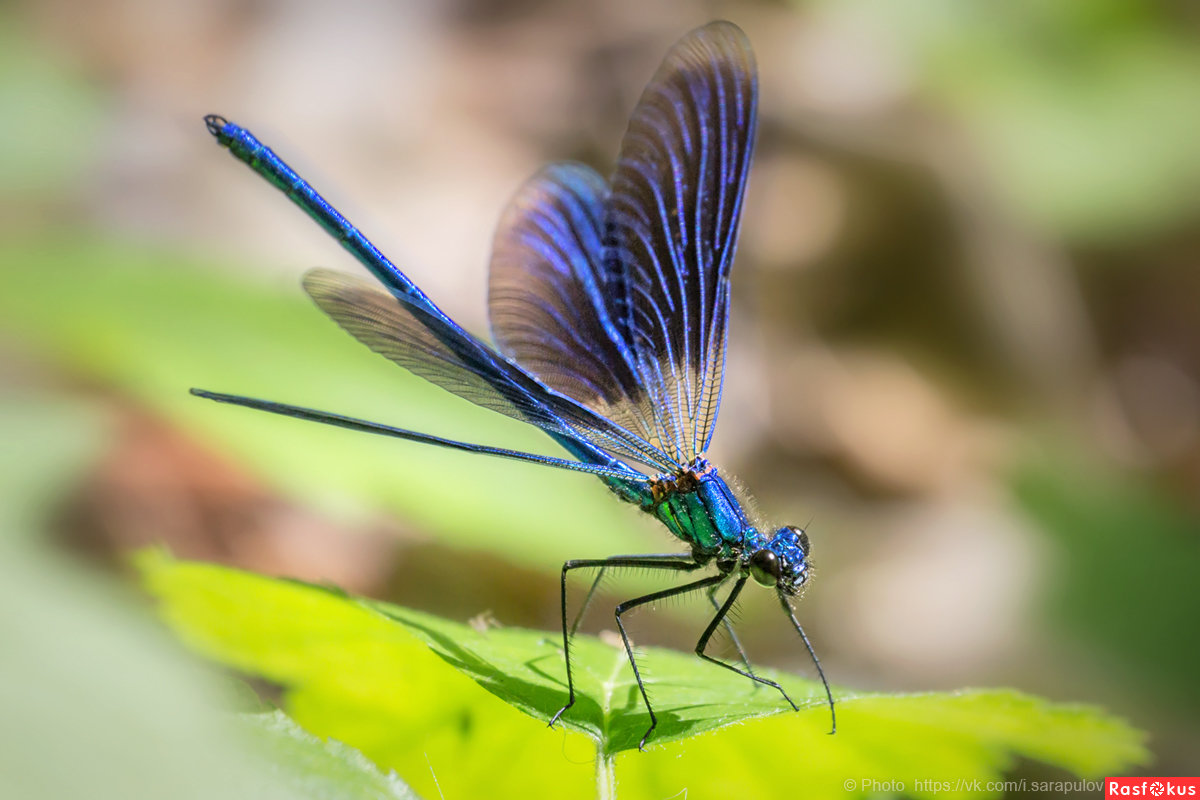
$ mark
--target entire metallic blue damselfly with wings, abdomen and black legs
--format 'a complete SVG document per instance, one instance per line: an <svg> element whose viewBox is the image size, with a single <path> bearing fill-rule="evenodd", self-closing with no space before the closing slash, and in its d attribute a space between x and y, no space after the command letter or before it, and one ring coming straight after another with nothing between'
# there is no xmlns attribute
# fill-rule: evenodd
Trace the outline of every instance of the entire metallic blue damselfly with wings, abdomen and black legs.
<svg viewBox="0 0 1200 800"><path fill-rule="evenodd" d="M792 599L809 577L809 539L799 528L760 529L737 492L704 458L725 374L730 267L754 150L757 77L745 35L731 23L688 34L642 95L620 148L612 184L582 164L534 175L512 199L496 234L488 313L496 345L446 317L366 236L247 130L220 116L209 132L316 219L383 284L313 270L304 287L338 325L406 369L484 408L530 422L571 458L454 441L378 422L284 403L192 390L223 403L502 456L595 475L626 503L654 516L686 553L614 555L563 565L560 581L566 703L575 703L566 579L595 570L642 567L701 573L682 585L628 600L617 628L650 724L624 614L694 591L716 609L696 644L707 661L774 687L756 675L733 634L730 609L748 581L773 589L824 685L829 684L796 619ZM719 591L730 587L724 600ZM584 608L587 602L584 602ZM582 615L582 610L580 615ZM725 626L742 664L707 652ZM836 729L836 718L833 717Z"/></svg>

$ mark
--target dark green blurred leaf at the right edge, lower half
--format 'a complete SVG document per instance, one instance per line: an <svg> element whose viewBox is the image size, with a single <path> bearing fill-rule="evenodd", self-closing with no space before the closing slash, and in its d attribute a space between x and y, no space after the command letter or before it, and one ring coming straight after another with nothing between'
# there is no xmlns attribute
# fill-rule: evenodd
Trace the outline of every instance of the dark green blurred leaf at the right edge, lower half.
<svg viewBox="0 0 1200 800"><path fill-rule="evenodd" d="M1134 688L1200 709L1200 519L1079 456L1031 456L1013 487L1069 558L1049 600L1060 636L1124 664Z"/></svg>

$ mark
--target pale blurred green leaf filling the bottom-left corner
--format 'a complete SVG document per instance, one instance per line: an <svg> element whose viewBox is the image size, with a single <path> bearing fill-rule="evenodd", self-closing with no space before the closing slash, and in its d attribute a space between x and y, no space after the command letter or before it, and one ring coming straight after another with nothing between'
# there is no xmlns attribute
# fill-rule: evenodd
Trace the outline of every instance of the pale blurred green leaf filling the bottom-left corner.
<svg viewBox="0 0 1200 800"><path fill-rule="evenodd" d="M414 798L337 742L234 715L124 588L0 537L0 796ZM23 542L13 546L11 542Z"/></svg>

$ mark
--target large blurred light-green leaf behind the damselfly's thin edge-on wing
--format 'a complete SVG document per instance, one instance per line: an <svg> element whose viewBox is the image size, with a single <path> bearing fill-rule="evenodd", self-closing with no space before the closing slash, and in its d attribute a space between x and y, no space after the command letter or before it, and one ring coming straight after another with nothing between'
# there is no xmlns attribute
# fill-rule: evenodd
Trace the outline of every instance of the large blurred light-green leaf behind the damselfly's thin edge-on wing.
<svg viewBox="0 0 1200 800"><path fill-rule="evenodd" d="M187 390L200 386L554 451L532 426L479 409L371 353L325 319L299 285L277 290L174 252L70 235L10 242L0 246L0 331L180 422L326 512L386 510L443 541L546 569L568 557L644 551L640 534L653 528L586 475L191 397ZM470 503L462 503L464 493Z"/></svg>

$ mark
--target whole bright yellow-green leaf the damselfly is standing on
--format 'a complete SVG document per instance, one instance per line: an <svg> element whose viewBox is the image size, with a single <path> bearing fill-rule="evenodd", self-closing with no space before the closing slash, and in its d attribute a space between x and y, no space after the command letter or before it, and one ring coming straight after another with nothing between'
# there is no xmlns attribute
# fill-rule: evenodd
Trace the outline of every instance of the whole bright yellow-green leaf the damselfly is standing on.
<svg viewBox="0 0 1200 800"><path fill-rule="evenodd" d="M192 646L282 684L301 724L360 747L425 794L432 769L448 796L588 796L590 770L580 763L588 748L570 732L586 734L607 764L636 747L648 724L623 651L599 639L578 637L580 699L563 721L568 732L554 732L545 721L566 694L554 634L479 631L158 552L143 554L139 566ZM802 705L794 714L773 690L694 656L650 648L643 662L660 724L649 752L616 758L625 798L684 789L690 798L768 796L799 786L820 796L842 793L850 778L860 782L851 795L887 794L869 781L899 780L905 794L953 796L916 781L994 781L1016 756L1081 776L1145 759L1141 734L1124 722L1012 690L838 690L839 732L830 736L822 690L811 681L763 673Z"/></svg>

